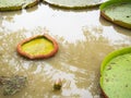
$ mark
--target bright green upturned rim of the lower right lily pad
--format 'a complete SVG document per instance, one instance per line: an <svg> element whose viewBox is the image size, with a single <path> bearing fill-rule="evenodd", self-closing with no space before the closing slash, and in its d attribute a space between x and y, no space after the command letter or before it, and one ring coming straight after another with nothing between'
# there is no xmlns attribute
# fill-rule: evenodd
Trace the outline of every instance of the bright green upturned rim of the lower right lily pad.
<svg viewBox="0 0 131 98"><path fill-rule="evenodd" d="M102 89L102 95L104 96L104 98L109 98L108 95L104 91L103 89L103 71L105 70L105 66L107 65L107 63L112 60L114 58L121 56L121 54L126 54L126 53L131 53L131 47L124 47L118 50L115 50L112 52L110 52L109 54L106 56L106 58L104 59L104 61L100 64L100 77L99 77L99 85L100 85L100 89Z"/></svg>

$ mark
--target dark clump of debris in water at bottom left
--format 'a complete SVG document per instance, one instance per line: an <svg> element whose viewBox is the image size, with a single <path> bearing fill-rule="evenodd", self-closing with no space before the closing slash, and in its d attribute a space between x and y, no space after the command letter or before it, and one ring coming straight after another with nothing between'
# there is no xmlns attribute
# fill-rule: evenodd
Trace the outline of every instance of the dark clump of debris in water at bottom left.
<svg viewBox="0 0 131 98"><path fill-rule="evenodd" d="M25 76L0 76L0 84L3 87L3 95L10 96L20 91L22 88L26 86L27 78Z"/></svg>

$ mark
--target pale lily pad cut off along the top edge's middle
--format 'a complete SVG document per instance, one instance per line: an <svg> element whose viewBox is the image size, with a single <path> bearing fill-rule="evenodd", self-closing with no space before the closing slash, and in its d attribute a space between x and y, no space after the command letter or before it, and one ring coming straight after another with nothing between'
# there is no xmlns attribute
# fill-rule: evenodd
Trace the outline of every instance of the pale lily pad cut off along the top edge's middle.
<svg viewBox="0 0 131 98"><path fill-rule="evenodd" d="M104 2L104 0L43 0L43 1L52 5L69 8L69 9L95 7Z"/></svg>

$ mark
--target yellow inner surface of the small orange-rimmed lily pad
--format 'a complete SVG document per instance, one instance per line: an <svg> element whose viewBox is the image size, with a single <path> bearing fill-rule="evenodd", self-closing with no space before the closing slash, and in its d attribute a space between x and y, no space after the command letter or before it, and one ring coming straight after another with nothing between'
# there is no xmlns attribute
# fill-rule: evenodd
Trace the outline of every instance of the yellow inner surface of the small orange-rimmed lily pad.
<svg viewBox="0 0 131 98"><path fill-rule="evenodd" d="M37 37L23 44L22 50L32 56L48 54L53 50L53 44L45 37Z"/></svg>

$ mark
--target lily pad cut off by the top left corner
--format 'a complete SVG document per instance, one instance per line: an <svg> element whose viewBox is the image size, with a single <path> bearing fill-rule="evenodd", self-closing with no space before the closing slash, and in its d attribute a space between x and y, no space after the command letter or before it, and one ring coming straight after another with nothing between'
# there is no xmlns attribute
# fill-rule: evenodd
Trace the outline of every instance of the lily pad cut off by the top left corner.
<svg viewBox="0 0 131 98"><path fill-rule="evenodd" d="M38 3L38 0L0 0L0 11L21 10L31 8Z"/></svg>

